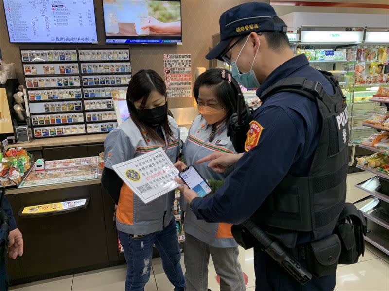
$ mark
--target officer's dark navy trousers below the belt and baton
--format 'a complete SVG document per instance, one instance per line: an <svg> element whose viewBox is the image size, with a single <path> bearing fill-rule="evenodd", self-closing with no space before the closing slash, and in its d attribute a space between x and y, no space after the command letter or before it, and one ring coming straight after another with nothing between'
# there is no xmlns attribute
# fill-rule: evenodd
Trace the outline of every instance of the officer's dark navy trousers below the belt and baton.
<svg viewBox="0 0 389 291"><path fill-rule="evenodd" d="M304 286L293 279L275 260L254 248L256 291L333 291L336 274L321 278L313 277Z"/></svg>

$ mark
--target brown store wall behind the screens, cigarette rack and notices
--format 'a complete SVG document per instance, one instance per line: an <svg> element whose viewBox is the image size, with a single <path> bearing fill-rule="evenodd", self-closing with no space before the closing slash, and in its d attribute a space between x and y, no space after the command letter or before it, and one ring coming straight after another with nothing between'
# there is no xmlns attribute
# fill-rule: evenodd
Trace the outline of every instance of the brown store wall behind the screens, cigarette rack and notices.
<svg viewBox="0 0 389 291"><path fill-rule="evenodd" d="M179 46L130 46L132 73L141 69L153 69L163 76L164 53L190 53L192 55L192 77L195 81L196 67L209 67L205 55L212 47L212 35L219 32L219 17L227 9L252 0L182 0L182 35L183 45ZM269 3L269 0L262 0ZM103 1L94 0L96 28L99 39L98 46L105 45ZM19 54L19 44L10 44L6 27L3 1L0 1L0 48L3 59L7 63L15 63L18 80L24 83ZM73 45L23 45L25 48L74 48ZM170 108L192 107L193 98L169 99Z"/></svg>

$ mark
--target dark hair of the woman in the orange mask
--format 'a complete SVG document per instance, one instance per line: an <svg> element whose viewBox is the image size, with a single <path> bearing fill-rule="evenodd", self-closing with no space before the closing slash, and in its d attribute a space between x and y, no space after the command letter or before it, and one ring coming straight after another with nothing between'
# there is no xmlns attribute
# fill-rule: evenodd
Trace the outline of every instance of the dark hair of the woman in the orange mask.
<svg viewBox="0 0 389 291"><path fill-rule="evenodd" d="M193 86L193 94L195 95L196 102L201 86L212 87L217 100L223 103L226 108L227 115L225 120L229 119L233 113L236 113L238 102L241 102L241 108L245 106L243 98L238 100L238 94L242 93L242 90L238 82L232 78L229 70L214 68L198 76Z"/></svg>

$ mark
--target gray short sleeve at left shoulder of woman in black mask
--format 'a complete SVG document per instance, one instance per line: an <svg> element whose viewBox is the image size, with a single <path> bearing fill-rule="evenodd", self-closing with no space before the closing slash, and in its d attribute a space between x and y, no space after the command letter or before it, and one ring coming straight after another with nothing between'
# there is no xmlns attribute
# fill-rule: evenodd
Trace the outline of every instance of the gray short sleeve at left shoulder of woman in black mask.
<svg viewBox="0 0 389 291"><path fill-rule="evenodd" d="M123 130L110 132L104 141L104 166L113 170L112 166L128 161L134 157L135 149L130 138Z"/></svg>

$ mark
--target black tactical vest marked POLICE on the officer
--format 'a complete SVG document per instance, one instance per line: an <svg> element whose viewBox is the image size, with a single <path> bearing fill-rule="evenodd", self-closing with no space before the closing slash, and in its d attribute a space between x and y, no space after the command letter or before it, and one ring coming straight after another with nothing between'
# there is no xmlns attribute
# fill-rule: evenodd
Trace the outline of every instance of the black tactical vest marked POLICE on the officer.
<svg viewBox="0 0 389 291"><path fill-rule="evenodd" d="M288 174L251 218L270 236L294 248L297 232L313 232L314 239L335 228L346 200L348 170L348 116L346 98L336 79L335 95L327 94L319 82L285 78L265 90L261 99L279 92L292 92L314 101L322 118L321 136L307 177Z"/></svg>

